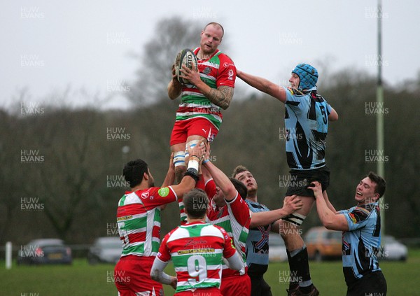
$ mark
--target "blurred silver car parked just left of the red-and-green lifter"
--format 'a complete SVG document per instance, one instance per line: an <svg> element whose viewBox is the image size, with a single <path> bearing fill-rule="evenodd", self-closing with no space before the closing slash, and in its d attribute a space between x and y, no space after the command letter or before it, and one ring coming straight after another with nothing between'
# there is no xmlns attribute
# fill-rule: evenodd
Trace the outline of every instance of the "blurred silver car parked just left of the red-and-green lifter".
<svg viewBox="0 0 420 296"><path fill-rule="evenodd" d="M123 243L119 237L98 237L87 253L89 264L113 263L115 264L121 257Z"/></svg>

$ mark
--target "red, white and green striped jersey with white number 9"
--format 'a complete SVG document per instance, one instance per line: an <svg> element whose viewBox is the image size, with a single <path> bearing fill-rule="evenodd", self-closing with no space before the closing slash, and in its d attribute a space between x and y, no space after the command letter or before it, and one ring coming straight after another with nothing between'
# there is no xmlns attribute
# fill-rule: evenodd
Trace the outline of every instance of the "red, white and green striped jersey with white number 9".
<svg viewBox="0 0 420 296"><path fill-rule="evenodd" d="M219 288L222 256L236 252L222 227L208 223L186 223L169 232L159 248L158 258L172 259L176 272L176 293L200 288Z"/></svg>

